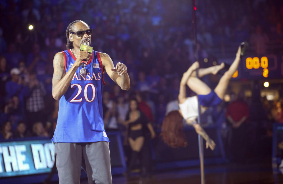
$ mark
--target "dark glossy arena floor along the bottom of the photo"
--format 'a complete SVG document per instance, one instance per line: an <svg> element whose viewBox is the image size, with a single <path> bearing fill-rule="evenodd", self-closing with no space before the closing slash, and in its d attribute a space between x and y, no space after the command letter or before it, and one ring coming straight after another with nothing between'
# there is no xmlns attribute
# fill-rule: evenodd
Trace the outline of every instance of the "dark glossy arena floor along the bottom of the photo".
<svg viewBox="0 0 283 184"><path fill-rule="evenodd" d="M283 172L283 170L282 170ZM207 166L205 168L207 184L279 184L283 183L283 175L279 169L272 170L271 163L262 164L226 164ZM81 184L87 184L87 180ZM113 184L198 184L200 169L159 171L151 177L142 178L133 174L130 178L113 176Z"/></svg>

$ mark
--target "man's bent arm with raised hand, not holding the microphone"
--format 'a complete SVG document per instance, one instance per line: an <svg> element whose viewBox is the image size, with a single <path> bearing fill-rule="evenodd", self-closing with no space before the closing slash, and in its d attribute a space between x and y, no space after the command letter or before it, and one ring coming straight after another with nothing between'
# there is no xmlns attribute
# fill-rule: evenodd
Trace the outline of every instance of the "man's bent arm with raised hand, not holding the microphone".
<svg viewBox="0 0 283 184"><path fill-rule="evenodd" d="M127 67L123 63L117 63L114 67L112 59L105 53L100 52L101 62L109 77L118 84L121 89L130 89L130 78L127 72ZM122 69L123 68L123 69Z"/></svg>

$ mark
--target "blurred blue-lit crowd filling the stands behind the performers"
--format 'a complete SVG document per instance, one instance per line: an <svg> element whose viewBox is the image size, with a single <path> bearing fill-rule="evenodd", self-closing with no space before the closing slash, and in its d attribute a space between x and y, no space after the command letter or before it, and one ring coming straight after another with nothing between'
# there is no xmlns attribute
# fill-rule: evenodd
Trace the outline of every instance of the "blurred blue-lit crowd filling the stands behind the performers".
<svg viewBox="0 0 283 184"><path fill-rule="evenodd" d="M186 0L1 1L0 139L53 136L59 105L52 98L53 57L66 49L65 31L76 19L93 28L94 50L107 53L114 65L122 62L128 67L129 91L122 91L104 76L106 129L125 130L123 122L131 97L138 100L140 110L154 129L159 129L164 115L178 108L180 77L194 62L190 3ZM209 50L212 47L237 46L243 40L248 40L257 54L270 52L268 43L283 44L283 2L278 1L277 5L267 0L197 3L200 60L215 57ZM27 29L29 25L34 28ZM212 62L200 63L200 67L211 65ZM209 77L206 82L209 84ZM223 103L208 110L205 122L218 121L222 126L226 107ZM262 112L267 122L283 122L282 101L272 104L262 99Z"/></svg>

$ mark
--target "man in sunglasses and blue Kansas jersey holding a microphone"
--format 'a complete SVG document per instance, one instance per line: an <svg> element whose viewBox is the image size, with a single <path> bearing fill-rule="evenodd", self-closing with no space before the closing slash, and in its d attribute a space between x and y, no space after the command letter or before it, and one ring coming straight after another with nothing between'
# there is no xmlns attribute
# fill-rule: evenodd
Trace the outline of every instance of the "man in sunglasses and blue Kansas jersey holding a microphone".
<svg viewBox="0 0 283 184"><path fill-rule="evenodd" d="M105 53L80 51L80 45L91 43L92 29L81 20L66 30L67 50L54 56L52 95L59 101L57 126L52 141L57 154L56 166L60 184L80 183L81 165L88 183L112 183L109 139L103 125L103 71L121 89L130 88L127 67ZM81 61L85 60L85 74ZM83 73L83 72L82 72Z"/></svg>

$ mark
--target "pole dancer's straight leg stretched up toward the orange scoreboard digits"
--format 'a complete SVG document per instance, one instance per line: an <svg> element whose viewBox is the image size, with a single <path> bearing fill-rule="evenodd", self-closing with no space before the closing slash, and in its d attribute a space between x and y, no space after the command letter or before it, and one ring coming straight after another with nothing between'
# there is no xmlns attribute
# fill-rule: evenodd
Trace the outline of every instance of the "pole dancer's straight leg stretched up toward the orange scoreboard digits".
<svg viewBox="0 0 283 184"><path fill-rule="evenodd" d="M214 91L218 95L219 98L223 99L226 89L228 87L228 83L232 78L233 74L237 71L239 63L240 63L240 54L241 54L241 47L238 48L238 52L236 54L236 59L231 64L230 68L227 72L219 80L217 86L215 87Z"/></svg>

